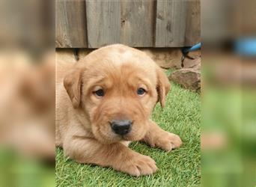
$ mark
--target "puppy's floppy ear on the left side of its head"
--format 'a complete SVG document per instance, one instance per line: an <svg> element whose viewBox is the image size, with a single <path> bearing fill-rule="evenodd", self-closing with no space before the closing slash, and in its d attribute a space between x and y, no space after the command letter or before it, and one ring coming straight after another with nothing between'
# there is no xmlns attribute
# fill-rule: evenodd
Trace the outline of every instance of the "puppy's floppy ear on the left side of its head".
<svg viewBox="0 0 256 187"><path fill-rule="evenodd" d="M81 97L81 68L76 67L73 70L70 70L67 75L64 77L64 88L67 91L67 94L70 96L73 108L78 108L80 105Z"/></svg>

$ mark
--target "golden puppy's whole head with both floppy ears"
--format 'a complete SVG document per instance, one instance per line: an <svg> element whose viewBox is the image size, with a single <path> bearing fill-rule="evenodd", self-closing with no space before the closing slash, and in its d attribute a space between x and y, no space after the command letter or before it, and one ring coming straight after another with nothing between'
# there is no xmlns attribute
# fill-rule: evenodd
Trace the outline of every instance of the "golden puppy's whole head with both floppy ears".
<svg viewBox="0 0 256 187"><path fill-rule="evenodd" d="M82 110L104 144L144 137L156 102L165 105L170 85L143 52L122 45L97 49L64 79L73 108Z"/></svg>

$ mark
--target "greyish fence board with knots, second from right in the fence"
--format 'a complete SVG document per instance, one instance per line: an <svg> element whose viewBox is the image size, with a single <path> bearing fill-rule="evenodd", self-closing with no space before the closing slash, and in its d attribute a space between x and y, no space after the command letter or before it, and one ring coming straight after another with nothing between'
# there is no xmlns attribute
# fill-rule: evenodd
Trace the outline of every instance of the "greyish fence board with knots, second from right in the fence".
<svg viewBox="0 0 256 187"><path fill-rule="evenodd" d="M156 47L183 46L187 1L157 0Z"/></svg>

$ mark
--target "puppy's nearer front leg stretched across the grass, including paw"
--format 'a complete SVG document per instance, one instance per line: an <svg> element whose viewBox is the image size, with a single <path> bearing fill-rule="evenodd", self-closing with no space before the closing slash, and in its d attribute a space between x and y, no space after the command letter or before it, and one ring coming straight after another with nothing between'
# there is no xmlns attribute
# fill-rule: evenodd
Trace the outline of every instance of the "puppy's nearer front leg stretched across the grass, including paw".
<svg viewBox="0 0 256 187"><path fill-rule="evenodd" d="M156 172L156 162L130 150L124 144L100 144L93 138L73 136L63 144L64 154L80 163L111 167L117 171L140 176Z"/></svg>

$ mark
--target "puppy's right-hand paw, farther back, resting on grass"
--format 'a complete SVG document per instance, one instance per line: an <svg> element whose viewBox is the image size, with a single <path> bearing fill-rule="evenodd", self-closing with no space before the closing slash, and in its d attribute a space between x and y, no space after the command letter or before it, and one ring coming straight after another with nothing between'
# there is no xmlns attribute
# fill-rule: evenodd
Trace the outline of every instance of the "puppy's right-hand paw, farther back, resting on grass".
<svg viewBox="0 0 256 187"><path fill-rule="evenodd" d="M182 144L180 137L171 132L162 133L162 135L157 136L154 141L156 147L167 151L174 150Z"/></svg>

